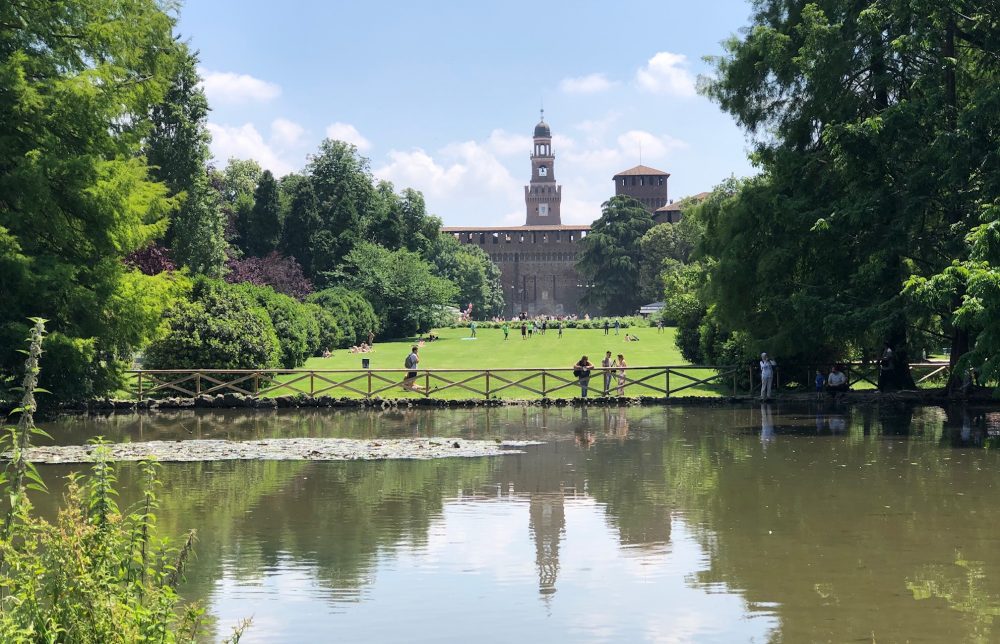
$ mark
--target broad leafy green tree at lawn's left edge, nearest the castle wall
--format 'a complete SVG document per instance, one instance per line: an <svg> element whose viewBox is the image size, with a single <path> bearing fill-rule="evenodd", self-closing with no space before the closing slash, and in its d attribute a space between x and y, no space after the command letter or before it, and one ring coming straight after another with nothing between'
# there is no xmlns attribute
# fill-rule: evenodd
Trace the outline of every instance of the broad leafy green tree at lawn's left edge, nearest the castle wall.
<svg viewBox="0 0 1000 644"><path fill-rule="evenodd" d="M383 334L391 338L429 330L435 311L453 305L458 295L455 285L434 275L416 253L367 242L347 255L338 278L371 303L383 321Z"/></svg>

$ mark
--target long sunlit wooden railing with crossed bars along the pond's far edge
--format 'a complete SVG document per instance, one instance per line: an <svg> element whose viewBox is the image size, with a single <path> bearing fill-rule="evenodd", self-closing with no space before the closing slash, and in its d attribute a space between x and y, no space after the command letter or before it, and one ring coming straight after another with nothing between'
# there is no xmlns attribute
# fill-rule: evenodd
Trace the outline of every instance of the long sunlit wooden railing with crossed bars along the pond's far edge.
<svg viewBox="0 0 1000 644"><path fill-rule="evenodd" d="M134 369L129 373L132 392L140 399L227 393L252 398L279 395L372 398L411 393L428 398L442 394L454 397L454 393L487 399L511 397L515 393L572 398L580 393L579 379L566 367L418 369L417 377L410 383L404 379L406 369ZM670 397L704 386L712 387L716 395L729 393L731 386L731 393L736 395L735 367L627 367L621 382L618 370L611 369L608 392L604 391L604 373L599 367L592 371L590 395L615 396L622 388L627 396Z"/></svg>

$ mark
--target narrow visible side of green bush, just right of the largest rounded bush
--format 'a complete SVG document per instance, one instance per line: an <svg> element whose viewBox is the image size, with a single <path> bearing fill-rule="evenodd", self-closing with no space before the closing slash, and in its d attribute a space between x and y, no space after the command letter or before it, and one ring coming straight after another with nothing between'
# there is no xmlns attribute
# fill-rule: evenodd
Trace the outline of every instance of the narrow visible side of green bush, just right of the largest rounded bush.
<svg viewBox="0 0 1000 644"><path fill-rule="evenodd" d="M234 292L246 295L267 312L278 336L282 367L301 367L306 358L316 352L320 330L312 309L269 286L244 282L231 288Z"/></svg>

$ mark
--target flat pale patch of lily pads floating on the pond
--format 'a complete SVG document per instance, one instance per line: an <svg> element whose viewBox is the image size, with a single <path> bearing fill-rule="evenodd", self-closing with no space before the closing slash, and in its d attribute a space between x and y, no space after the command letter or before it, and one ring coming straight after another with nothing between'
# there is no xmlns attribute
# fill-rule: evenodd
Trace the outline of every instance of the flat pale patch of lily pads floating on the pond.
<svg viewBox="0 0 1000 644"><path fill-rule="evenodd" d="M523 447L538 441L467 440L464 438L271 438L265 440L144 441L112 443L109 460L163 463L193 461L381 461L390 459L477 458L523 454ZM95 445L32 447L26 458L32 463L93 463ZM2 458L9 458L3 454Z"/></svg>

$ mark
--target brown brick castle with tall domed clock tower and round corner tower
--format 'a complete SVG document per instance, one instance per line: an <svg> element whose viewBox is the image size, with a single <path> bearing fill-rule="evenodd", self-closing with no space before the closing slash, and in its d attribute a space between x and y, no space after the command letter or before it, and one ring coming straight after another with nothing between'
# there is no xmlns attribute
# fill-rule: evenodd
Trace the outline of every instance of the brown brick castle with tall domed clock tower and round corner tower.
<svg viewBox="0 0 1000 644"><path fill-rule="evenodd" d="M585 311L580 299L586 284L576 263L580 240L590 232L590 226L562 223L562 186L556 183L552 130L544 113L535 126L530 159L523 226L446 226L441 230L463 244L478 245L500 268L504 316L521 312L530 316L582 315ZM668 205L669 176L639 165L615 175L615 194L634 197L656 212Z"/></svg>

